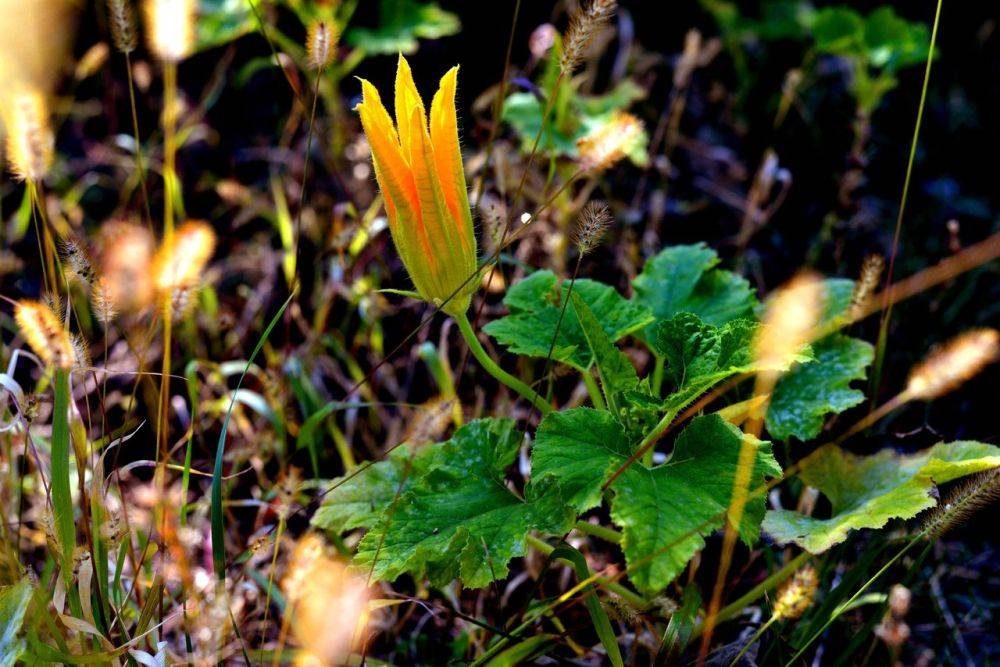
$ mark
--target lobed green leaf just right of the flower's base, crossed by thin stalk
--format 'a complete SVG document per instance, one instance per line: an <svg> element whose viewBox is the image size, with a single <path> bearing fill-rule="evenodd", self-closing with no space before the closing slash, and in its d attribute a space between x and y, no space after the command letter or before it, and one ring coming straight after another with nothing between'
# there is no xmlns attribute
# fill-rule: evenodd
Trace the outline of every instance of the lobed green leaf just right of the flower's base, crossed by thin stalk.
<svg viewBox="0 0 1000 667"><path fill-rule="evenodd" d="M504 297L510 314L490 322L483 327L484 331L515 354L545 358L569 289L568 282L558 288L556 285L555 274L548 270L527 276ZM627 301L613 287L596 280L577 280L573 293L589 306L611 342L653 319L644 306ZM563 316L552 358L581 371L588 370L593 363L593 354L572 308L567 308Z"/></svg>

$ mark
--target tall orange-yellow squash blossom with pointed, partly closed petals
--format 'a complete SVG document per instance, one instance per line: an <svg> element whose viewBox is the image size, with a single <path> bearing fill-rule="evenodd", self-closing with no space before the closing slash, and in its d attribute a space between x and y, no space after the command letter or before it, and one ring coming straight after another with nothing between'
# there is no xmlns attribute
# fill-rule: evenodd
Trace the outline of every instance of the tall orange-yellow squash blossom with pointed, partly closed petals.
<svg viewBox="0 0 1000 667"><path fill-rule="evenodd" d="M371 145L389 230L420 296L449 314L469 307L476 281L476 236L458 145L458 67L441 77L430 124L402 56L396 68L396 122L375 87L361 80L357 106Z"/></svg>

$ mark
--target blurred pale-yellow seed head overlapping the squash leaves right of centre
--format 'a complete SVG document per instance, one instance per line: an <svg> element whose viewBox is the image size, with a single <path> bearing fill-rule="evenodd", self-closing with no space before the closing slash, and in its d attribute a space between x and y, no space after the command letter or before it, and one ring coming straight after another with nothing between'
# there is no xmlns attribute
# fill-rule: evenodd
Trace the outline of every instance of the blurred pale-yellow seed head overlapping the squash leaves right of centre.
<svg viewBox="0 0 1000 667"><path fill-rule="evenodd" d="M761 369L780 370L794 361L812 340L825 298L823 281L812 273L801 273L778 289L754 342Z"/></svg>

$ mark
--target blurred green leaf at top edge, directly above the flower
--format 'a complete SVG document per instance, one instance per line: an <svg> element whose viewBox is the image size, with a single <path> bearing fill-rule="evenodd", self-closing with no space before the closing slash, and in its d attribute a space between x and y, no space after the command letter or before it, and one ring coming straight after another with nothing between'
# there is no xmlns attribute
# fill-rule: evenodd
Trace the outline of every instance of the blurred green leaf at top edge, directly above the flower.
<svg viewBox="0 0 1000 667"><path fill-rule="evenodd" d="M381 0L379 25L374 29L353 28L346 40L371 54L410 54L418 39L438 39L454 35L462 27L458 17L434 2Z"/></svg>

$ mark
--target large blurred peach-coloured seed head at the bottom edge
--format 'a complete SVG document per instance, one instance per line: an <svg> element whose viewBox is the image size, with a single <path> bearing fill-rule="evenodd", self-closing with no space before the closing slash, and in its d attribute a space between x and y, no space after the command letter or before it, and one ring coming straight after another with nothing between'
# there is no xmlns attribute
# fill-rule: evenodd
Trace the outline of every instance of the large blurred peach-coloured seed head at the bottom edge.
<svg viewBox="0 0 1000 667"><path fill-rule="evenodd" d="M292 614L292 634L319 664L339 665L351 650L359 627L367 623L364 580L327 555L322 538L299 540L282 581Z"/></svg>

